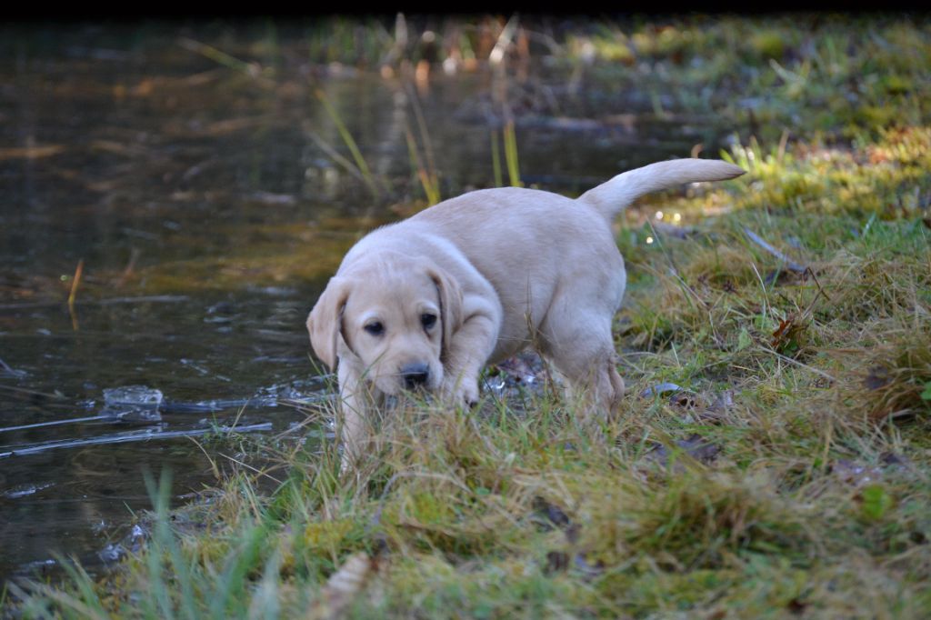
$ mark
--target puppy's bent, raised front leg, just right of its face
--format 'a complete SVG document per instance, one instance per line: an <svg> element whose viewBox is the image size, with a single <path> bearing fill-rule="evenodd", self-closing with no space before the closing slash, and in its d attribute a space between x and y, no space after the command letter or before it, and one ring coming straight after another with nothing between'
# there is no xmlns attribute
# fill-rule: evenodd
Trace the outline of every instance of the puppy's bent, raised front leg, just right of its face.
<svg viewBox="0 0 931 620"><path fill-rule="evenodd" d="M492 309L469 315L452 336L443 369L442 393L453 405L479 402L479 373L498 339L500 313Z"/></svg>

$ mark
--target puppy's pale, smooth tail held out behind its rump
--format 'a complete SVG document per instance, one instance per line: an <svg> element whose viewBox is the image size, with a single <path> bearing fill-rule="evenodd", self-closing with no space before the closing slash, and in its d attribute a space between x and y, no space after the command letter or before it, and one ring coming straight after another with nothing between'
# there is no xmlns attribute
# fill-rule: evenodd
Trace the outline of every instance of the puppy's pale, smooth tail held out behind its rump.
<svg viewBox="0 0 931 620"><path fill-rule="evenodd" d="M578 197L608 222L641 195L698 181L724 181L746 170L720 159L672 159L618 174Z"/></svg>

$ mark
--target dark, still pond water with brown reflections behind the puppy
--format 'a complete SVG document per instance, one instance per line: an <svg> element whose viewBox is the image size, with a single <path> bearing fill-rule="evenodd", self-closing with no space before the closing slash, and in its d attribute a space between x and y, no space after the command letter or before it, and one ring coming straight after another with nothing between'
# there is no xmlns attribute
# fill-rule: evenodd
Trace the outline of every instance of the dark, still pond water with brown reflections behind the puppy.
<svg viewBox="0 0 931 620"><path fill-rule="evenodd" d="M521 177L545 189L577 194L724 135L543 64L418 84L314 62L297 30L0 34L2 579L55 554L100 566L151 505L145 468L174 472L176 504L215 483L209 458L235 446L190 438L303 420L291 400L324 392L304 329L317 293L359 236L424 206L411 139L450 197L494 182L502 84ZM340 163L352 155L321 97L377 196ZM160 394L157 414L106 392L134 385Z"/></svg>

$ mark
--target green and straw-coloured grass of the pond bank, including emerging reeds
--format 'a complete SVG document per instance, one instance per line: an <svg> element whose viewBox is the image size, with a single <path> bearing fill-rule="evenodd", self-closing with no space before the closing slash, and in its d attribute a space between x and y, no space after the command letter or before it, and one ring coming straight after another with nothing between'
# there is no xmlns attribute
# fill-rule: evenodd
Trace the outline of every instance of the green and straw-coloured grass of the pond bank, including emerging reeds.
<svg viewBox="0 0 931 620"><path fill-rule="evenodd" d="M426 41L406 22L391 33L332 20L307 41L318 60L382 63L383 73L424 60L465 71L499 44L516 64L548 46L549 61L616 78L616 92L583 93L590 101L532 101L542 112L511 101L514 124L490 139L498 184L520 182L521 118L554 106L583 115L598 97L623 96L644 115L733 120L723 156L747 175L653 196L618 225L627 396L606 427L612 440L575 425L544 372L544 388L486 392L476 412L400 407L353 476L340 477L331 442L243 438L274 465L243 465L209 501L170 514L169 478L150 479L141 553L100 577L69 568L63 586L10 584L9 609L931 614L928 22L557 21L534 31L449 20ZM428 135L409 128L407 138L412 177L435 202ZM385 191L348 135L346 150L346 165ZM306 412L311 428L333 414ZM266 495L258 485L269 478Z"/></svg>

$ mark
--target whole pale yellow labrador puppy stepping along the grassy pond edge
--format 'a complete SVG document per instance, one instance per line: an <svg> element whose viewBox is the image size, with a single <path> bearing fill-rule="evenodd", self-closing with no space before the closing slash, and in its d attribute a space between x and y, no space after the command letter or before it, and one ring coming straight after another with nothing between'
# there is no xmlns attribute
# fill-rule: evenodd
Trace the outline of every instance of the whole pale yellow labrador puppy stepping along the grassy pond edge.
<svg viewBox="0 0 931 620"><path fill-rule="evenodd" d="M614 217L641 195L743 173L677 159L576 199L479 190L362 238L307 318L317 357L339 377L344 468L385 396L425 388L472 405L482 367L530 344L594 409L611 411L624 393L611 324L627 282Z"/></svg>

